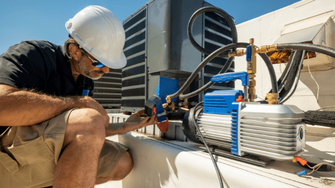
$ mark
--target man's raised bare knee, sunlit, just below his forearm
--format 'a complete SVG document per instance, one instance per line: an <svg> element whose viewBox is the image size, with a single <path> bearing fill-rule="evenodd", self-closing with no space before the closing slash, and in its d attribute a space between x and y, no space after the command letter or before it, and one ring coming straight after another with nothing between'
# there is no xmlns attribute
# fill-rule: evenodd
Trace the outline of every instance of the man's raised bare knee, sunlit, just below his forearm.
<svg viewBox="0 0 335 188"><path fill-rule="evenodd" d="M72 141L88 141L102 147L104 137L104 120L101 114L89 108L75 109L68 117L63 147Z"/></svg>

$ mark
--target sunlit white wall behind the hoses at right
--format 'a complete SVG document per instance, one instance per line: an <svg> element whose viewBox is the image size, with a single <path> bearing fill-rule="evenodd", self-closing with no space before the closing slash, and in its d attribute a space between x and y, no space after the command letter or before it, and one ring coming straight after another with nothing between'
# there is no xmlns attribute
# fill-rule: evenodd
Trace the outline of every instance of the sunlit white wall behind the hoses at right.
<svg viewBox="0 0 335 188"><path fill-rule="evenodd" d="M271 5L270 1L268 5ZM325 36L319 36L321 37L319 43L335 48L335 35L333 35L335 28L332 26L334 24L334 16L335 0L301 0L236 25L238 42L249 42L249 38L254 38L256 46L271 45L283 34L325 24L325 28L323 28L325 31L322 31ZM299 32L296 33L300 34ZM304 37L307 38L307 34ZM294 37L292 38L292 42L295 42ZM289 40L284 43L289 43ZM314 60L310 59L310 61ZM310 69L313 78L319 85L318 102L316 100L317 85L308 72L307 60L304 60L297 89L285 104L295 105L303 111L335 105L335 69L333 69L335 62L333 62L333 59L325 60L321 56L317 61L319 62L310 62ZM319 63L319 65L312 67L315 63ZM285 68L285 64L280 63L273 66L278 79ZM326 66L328 67L324 68ZM318 67L319 70L317 70ZM235 72L238 71L246 71L245 56L235 57ZM266 93L271 89L271 82L266 65L259 56L257 56L257 73L255 79L256 95L264 99ZM242 86L240 86L240 81L235 81L235 89L243 90ZM325 110L335 111L335 108Z"/></svg>

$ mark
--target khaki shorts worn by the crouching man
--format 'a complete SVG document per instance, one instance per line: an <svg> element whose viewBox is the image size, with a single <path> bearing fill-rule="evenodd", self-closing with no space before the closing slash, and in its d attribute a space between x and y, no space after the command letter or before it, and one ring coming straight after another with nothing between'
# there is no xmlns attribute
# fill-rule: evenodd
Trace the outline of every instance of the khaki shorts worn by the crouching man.
<svg viewBox="0 0 335 188"><path fill-rule="evenodd" d="M0 188L42 188L52 185L67 119L72 110L40 124L9 127L0 135ZM127 150L128 147L122 144L105 140L97 177L107 177Z"/></svg>

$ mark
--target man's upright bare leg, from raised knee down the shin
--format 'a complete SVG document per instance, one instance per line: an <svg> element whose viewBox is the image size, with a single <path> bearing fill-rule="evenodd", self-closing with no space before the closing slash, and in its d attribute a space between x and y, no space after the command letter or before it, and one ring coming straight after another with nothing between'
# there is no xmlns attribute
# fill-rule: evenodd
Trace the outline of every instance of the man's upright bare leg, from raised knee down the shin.
<svg viewBox="0 0 335 188"><path fill-rule="evenodd" d="M93 188L104 137L103 118L96 110L73 110L54 170L53 188Z"/></svg>

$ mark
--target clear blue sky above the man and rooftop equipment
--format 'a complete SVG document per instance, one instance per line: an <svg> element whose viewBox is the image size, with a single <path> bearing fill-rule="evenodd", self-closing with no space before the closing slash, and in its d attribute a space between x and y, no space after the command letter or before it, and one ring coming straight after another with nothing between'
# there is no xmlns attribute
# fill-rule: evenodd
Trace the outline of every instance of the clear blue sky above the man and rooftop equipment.
<svg viewBox="0 0 335 188"><path fill-rule="evenodd" d="M65 22L88 5L112 11L122 22L148 0L0 0L0 54L28 39L62 45L68 38ZM235 18L236 24L299 0L206 0Z"/></svg>

